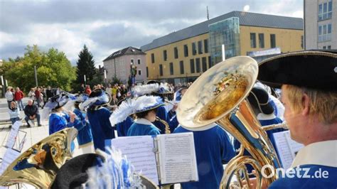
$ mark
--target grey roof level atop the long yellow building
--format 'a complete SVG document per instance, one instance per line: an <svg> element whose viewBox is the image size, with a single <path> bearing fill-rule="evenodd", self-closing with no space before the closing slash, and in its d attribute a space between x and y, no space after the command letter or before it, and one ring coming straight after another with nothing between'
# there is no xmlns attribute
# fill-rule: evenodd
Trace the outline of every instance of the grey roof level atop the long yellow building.
<svg viewBox="0 0 337 189"><path fill-rule="evenodd" d="M145 52L147 50L158 48L163 45L167 45L177 41L182 41L186 38L192 38L194 36L199 36L201 34L208 33L208 25L232 17L239 18L240 26L257 26L266 28L285 28L285 29L303 30L302 18L275 16L262 13L232 11L230 13L225 13L221 16L212 18L208 21L197 23L196 25L190 26L188 28L183 28L180 31L169 33L168 35L163 36L161 38L156 38L151 43L141 46L141 50Z"/></svg>

